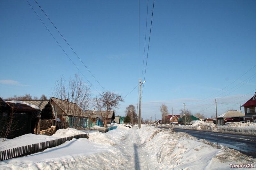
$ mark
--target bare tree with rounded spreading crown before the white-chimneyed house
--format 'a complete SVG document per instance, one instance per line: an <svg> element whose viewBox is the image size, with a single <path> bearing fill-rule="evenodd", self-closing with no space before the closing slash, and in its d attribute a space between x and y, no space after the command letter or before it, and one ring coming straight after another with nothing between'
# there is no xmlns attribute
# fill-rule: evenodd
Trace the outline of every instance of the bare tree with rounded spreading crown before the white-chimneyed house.
<svg viewBox="0 0 256 170"><path fill-rule="evenodd" d="M114 108L118 108L120 102L124 102L121 95L114 92L101 92L97 98L94 99L95 107L100 110L101 117L103 119L104 127L107 127L108 116L110 111Z"/></svg>

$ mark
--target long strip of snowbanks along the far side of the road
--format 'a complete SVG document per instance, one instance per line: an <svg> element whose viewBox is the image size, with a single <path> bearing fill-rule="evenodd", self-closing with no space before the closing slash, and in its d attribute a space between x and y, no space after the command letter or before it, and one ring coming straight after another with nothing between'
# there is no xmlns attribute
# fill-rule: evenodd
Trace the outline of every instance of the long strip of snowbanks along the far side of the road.
<svg viewBox="0 0 256 170"><path fill-rule="evenodd" d="M247 135L256 135L256 123L248 122L236 122L230 123L225 126L216 126L213 123L205 123L204 121L194 121L193 124L183 126L183 125L160 125L170 128L180 128L180 129L196 129L196 130L210 130L214 132L226 132L226 133L240 133Z"/></svg>

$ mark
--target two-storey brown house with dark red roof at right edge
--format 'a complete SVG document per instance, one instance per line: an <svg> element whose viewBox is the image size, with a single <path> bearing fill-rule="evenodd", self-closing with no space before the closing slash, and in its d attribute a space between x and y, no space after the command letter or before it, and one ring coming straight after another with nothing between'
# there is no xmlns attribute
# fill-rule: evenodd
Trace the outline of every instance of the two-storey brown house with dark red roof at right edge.
<svg viewBox="0 0 256 170"><path fill-rule="evenodd" d="M244 122L256 123L256 92L254 96L243 104L244 107Z"/></svg>

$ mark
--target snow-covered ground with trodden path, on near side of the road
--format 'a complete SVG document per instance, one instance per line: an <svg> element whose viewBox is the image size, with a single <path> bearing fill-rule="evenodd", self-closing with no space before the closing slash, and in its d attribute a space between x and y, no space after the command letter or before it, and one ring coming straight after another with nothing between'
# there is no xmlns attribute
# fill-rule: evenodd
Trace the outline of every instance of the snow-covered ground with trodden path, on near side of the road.
<svg viewBox="0 0 256 170"><path fill-rule="evenodd" d="M84 133L60 129L52 137L24 135L1 142L2 149L20 142L35 143ZM36 139L39 137L39 139ZM4 143L10 143L4 144ZM255 165L256 159L183 132L143 125L118 125L107 133L93 132L89 139L72 139L29 156L0 162L0 169L231 169L230 164ZM232 168L239 169L239 168Z"/></svg>

